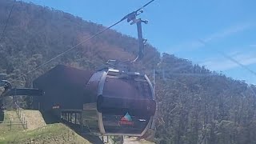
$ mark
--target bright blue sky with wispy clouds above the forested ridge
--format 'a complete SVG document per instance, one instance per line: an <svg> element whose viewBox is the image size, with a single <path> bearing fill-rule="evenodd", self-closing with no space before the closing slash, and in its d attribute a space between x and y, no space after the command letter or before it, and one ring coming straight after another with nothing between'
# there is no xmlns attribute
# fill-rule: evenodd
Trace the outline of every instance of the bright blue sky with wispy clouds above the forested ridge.
<svg viewBox="0 0 256 144"><path fill-rule="evenodd" d="M23 0L53 7L87 21L110 26L148 0ZM256 71L255 0L155 0L141 18L144 37L160 52L175 54L210 70L256 84L256 75L218 53ZM137 38L136 27L113 28ZM202 44L202 42L206 42Z"/></svg>

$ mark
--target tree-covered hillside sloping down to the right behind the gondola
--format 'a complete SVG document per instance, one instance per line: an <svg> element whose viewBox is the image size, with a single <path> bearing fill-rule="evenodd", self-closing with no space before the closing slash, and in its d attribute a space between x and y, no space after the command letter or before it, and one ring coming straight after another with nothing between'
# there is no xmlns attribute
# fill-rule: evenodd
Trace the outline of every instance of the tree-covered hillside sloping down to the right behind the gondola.
<svg viewBox="0 0 256 144"><path fill-rule="evenodd" d="M0 0L2 32L14 1ZM0 42L0 73L14 86L31 86L34 78L57 64L96 70L108 59L132 60L137 40L107 30L53 62L104 26L49 7L16 2ZM255 86L193 65L172 54L160 56L150 44L134 65L151 78L156 73L158 113L155 141L161 143L256 143ZM30 74L30 70L34 70ZM26 74L26 75L23 75Z"/></svg>

